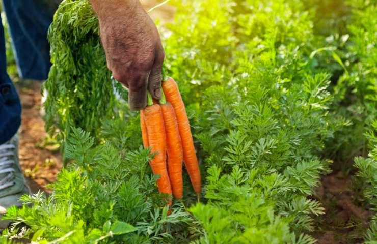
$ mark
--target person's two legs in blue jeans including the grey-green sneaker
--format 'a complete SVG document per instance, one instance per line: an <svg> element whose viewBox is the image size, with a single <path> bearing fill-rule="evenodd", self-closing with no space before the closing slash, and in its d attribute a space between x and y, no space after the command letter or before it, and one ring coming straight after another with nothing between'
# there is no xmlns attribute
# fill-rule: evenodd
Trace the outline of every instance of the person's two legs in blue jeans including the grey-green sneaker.
<svg viewBox="0 0 377 244"><path fill-rule="evenodd" d="M3 0L22 78L44 80L48 75L47 31L54 10L46 5L50 1L44 1ZM10 206L21 206L19 197L29 193L18 160L16 132L21 121L21 104L6 69L4 30L0 24L0 217ZM7 224L8 221L0 220L0 229Z"/></svg>

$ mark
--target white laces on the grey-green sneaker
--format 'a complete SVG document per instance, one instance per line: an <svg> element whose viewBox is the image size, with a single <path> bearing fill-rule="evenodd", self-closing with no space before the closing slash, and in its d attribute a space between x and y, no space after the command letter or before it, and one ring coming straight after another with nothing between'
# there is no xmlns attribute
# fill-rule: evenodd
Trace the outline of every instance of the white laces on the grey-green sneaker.
<svg viewBox="0 0 377 244"><path fill-rule="evenodd" d="M9 156L14 155L14 150L16 147L11 143L6 143L0 145L0 174L8 173L3 179L0 180L0 190L6 189L14 185L14 172L15 169L12 165L15 163L14 160L10 159ZM6 167L7 166L7 167Z"/></svg>

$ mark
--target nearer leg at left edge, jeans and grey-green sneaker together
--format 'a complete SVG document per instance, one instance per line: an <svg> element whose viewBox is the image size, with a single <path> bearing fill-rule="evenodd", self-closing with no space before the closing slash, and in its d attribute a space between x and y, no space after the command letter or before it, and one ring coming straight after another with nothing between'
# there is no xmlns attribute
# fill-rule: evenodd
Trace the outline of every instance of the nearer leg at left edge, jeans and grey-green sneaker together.
<svg viewBox="0 0 377 244"><path fill-rule="evenodd" d="M12 205L21 206L19 197L29 193L18 161L16 132L21 123L21 104L7 74L4 29L0 16L0 216ZM9 221L0 220L0 229Z"/></svg>

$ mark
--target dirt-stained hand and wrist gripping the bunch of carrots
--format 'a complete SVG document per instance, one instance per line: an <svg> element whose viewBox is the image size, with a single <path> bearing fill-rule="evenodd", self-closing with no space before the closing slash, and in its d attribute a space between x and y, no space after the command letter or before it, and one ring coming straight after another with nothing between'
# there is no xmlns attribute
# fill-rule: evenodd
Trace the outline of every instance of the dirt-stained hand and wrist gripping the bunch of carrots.
<svg viewBox="0 0 377 244"><path fill-rule="evenodd" d="M156 26L139 0L92 0L107 67L129 89L131 110L147 105L147 89L161 98L165 53Z"/></svg>

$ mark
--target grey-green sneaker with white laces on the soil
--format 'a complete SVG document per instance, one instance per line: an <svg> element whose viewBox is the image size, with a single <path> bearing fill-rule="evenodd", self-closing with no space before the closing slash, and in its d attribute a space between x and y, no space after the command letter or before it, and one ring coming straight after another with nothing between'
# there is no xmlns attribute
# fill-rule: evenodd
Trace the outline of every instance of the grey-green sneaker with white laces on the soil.
<svg viewBox="0 0 377 244"><path fill-rule="evenodd" d="M0 217L10 206L21 207L19 198L29 194L30 189L23 177L18 160L18 137L0 145ZM10 221L0 220L0 229L7 227Z"/></svg>

